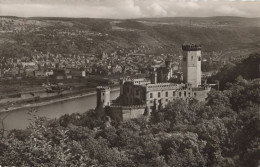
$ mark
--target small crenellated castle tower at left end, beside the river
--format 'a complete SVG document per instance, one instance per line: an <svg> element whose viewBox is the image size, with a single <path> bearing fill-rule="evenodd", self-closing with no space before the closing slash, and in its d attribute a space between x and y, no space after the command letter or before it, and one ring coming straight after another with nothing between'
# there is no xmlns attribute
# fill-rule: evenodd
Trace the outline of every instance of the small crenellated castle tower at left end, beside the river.
<svg viewBox="0 0 260 167"><path fill-rule="evenodd" d="M97 107L100 105L110 106L110 88L107 86L97 87Z"/></svg>

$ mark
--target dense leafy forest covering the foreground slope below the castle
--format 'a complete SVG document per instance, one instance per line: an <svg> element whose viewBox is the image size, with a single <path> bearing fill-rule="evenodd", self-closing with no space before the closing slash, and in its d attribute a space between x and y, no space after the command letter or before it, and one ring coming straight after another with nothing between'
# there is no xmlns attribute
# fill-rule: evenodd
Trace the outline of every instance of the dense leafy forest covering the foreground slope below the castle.
<svg viewBox="0 0 260 167"><path fill-rule="evenodd" d="M259 58L250 55L244 65ZM36 117L26 130L1 136L0 164L257 167L260 80L235 73L240 75L223 90L212 90L206 102L176 100L149 119L114 122L94 111L52 120Z"/></svg>

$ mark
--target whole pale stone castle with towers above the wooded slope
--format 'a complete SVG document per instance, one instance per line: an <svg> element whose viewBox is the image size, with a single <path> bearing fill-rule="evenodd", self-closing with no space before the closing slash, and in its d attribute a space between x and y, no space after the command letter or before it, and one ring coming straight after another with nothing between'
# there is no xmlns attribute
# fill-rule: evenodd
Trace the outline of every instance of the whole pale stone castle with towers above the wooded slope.
<svg viewBox="0 0 260 167"><path fill-rule="evenodd" d="M184 83L169 82L173 70L167 58L165 65L150 69L150 79L121 79L120 96L113 103L110 88L97 87L97 108L105 109L105 115L114 120L125 121L149 115L174 99L204 101L211 88L201 84L201 49L201 45L182 45Z"/></svg>

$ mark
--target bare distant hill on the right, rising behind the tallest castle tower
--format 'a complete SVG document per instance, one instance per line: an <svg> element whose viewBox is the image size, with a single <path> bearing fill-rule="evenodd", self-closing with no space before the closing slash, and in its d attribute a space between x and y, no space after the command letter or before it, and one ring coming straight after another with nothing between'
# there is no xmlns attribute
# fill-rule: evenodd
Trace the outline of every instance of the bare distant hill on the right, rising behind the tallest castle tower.
<svg viewBox="0 0 260 167"><path fill-rule="evenodd" d="M140 38L152 37L155 45L179 46L185 42L195 42L201 43L206 50L218 50L260 43L259 18L152 18L124 20L117 26L126 30L143 30L144 35L139 35Z"/></svg>

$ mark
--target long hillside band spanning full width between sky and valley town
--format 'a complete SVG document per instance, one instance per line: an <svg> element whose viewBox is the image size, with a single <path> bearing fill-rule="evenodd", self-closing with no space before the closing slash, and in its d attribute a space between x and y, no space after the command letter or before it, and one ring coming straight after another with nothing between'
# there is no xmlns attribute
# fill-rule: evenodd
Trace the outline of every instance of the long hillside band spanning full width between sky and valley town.
<svg viewBox="0 0 260 167"><path fill-rule="evenodd" d="M179 53L180 45L196 42L204 51L255 50L260 44L260 18L0 18L0 56L9 47L25 54L39 50L57 53L100 53L146 46L144 52ZM15 33L13 33L15 32ZM12 52L12 51L11 51Z"/></svg>

